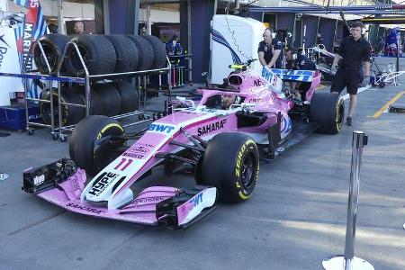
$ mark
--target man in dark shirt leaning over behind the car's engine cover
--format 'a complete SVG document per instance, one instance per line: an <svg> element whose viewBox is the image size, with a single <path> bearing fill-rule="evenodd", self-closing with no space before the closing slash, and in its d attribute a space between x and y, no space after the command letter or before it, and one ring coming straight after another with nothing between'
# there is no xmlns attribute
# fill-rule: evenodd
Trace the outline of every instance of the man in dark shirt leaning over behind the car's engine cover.
<svg viewBox="0 0 405 270"><path fill-rule="evenodd" d="M273 39L273 30L266 28L263 33L263 41L260 41L257 49L260 64L263 67L281 68L282 59L280 57L283 43L281 40Z"/></svg>

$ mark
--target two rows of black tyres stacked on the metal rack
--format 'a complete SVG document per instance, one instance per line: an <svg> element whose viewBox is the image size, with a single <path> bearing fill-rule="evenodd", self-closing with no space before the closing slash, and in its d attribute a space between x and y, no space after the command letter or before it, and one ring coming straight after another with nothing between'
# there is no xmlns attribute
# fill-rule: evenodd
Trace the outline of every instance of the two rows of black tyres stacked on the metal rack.
<svg viewBox="0 0 405 270"><path fill-rule="evenodd" d="M49 67L42 56L40 47L35 46L34 62L38 71L44 75L56 75L58 65L63 76L84 77L86 75L106 75L126 73L166 67L165 44L151 35L76 35L71 38L61 34L47 34L38 40L42 45ZM85 63L83 67L76 49L67 48L68 42L76 43L77 49ZM50 69L50 72L49 72ZM114 79L115 77L112 77ZM124 80L112 82L91 82L91 114L113 116L137 109L138 93L134 87ZM58 91L44 90L42 99L53 98L55 124L58 124ZM73 84L62 86L60 100L64 103L85 104L85 87ZM62 105L62 124L76 124L85 117L85 108ZM50 104L41 103L40 112L45 123L50 124Z"/></svg>

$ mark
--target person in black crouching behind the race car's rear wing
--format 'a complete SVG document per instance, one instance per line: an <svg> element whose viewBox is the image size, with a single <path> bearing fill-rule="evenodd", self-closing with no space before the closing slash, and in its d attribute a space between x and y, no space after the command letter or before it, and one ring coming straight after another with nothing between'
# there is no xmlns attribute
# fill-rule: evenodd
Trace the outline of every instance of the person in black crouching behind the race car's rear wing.
<svg viewBox="0 0 405 270"><path fill-rule="evenodd" d="M285 58L287 58L287 68L288 69L300 69L300 70L317 70L315 64L303 54L298 54L297 49L294 47L289 47L285 49ZM311 83L307 82L297 82L291 85L292 89L297 89L300 91L302 101L306 100L307 91L311 88Z"/></svg>

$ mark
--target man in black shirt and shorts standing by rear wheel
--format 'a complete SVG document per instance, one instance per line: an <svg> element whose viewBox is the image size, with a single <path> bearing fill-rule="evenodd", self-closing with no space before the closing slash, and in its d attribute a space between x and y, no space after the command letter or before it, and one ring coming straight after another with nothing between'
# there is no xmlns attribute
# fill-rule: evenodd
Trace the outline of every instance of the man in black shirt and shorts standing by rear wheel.
<svg viewBox="0 0 405 270"><path fill-rule="evenodd" d="M367 40L362 38L363 23L356 22L352 24L351 36L346 37L340 43L338 54L333 59L332 67L330 71L333 78L330 92L341 93L346 87L347 93L350 95L350 102L348 108L348 114L346 124L348 126L353 125L353 112L355 112L357 102L357 88L360 80L360 67L362 63L365 68L365 76L362 82L362 86L367 85L370 82L370 54L371 46ZM342 60L337 70L336 65L339 60Z"/></svg>

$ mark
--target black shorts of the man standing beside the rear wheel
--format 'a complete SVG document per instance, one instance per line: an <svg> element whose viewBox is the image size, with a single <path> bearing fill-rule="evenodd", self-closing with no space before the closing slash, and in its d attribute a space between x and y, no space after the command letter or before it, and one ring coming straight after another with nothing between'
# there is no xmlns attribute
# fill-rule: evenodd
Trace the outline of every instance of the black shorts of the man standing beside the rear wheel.
<svg viewBox="0 0 405 270"><path fill-rule="evenodd" d="M348 94L357 94L358 84L360 82L360 71L358 69L339 68L333 77L330 92L342 92L347 89Z"/></svg>

